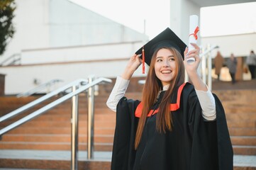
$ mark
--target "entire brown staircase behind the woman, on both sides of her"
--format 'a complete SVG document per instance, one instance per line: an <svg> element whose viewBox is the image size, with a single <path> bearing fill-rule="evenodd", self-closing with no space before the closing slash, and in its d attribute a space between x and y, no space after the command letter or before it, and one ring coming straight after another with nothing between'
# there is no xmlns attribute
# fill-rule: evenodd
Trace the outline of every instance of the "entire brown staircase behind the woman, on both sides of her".
<svg viewBox="0 0 256 170"><path fill-rule="evenodd" d="M137 81L136 81L137 82ZM131 82L132 83L132 82ZM240 157L252 157L256 155L256 81L252 82L252 88L243 89L226 84L213 82L213 93L221 99L226 111L226 118L233 144L234 154ZM112 84L113 85L113 84ZM238 84L239 85L239 84ZM236 86L238 86L236 85ZM109 87L110 86L110 87ZM222 89L221 89L221 86ZM228 86L230 86L228 88ZM240 86L244 86L241 84ZM94 123L94 150L95 158L88 161L87 150L87 96L79 95L79 169L110 169L113 133L115 128L115 113L106 107L106 100L113 86L108 85L101 89L100 95L95 96L95 123ZM223 91L223 88L227 88ZM246 86L247 87L247 86ZM253 88L254 87L254 88ZM225 89L224 88L224 89ZM234 89L232 89L234 88ZM128 88L128 98L138 98L141 95L141 86L135 89L133 83ZM239 89L239 90L235 90ZM16 98L13 96L0 97L0 116L13 111L15 108L35 100L39 96ZM57 98L57 96L55 97ZM43 106L45 103L43 103ZM40 108L42 106L37 106ZM36 109L35 108L35 109ZM25 112L26 115L30 112ZM51 111L44 113L11 130L3 135L0 140L0 168L23 169L70 169L70 140L71 140L71 101L66 101ZM0 123L0 128L13 121L7 120ZM33 152L35 151L35 152ZM10 159L4 157L4 153L20 153L23 157ZM29 157L26 154L33 154ZM55 154L57 158L52 158ZM106 157L102 157L102 155ZM46 157L43 159L42 157ZM35 159L33 159L35 157ZM40 157L40 159L37 157ZM48 157L48 158L47 158ZM61 159L63 158L63 159ZM239 160L238 160L239 161ZM244 163L243 161L241 161ZM256 166L236 166L235 170L255 170Z"/></svg>

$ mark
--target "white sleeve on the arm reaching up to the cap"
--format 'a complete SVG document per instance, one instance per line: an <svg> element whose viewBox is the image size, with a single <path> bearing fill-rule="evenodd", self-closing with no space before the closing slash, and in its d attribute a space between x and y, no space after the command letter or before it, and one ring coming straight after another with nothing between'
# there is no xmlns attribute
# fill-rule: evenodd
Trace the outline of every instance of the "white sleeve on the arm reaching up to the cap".
<svg viewBox="0 0 256 170"><path fill-rule="evenodd" d="M111 94L108 97L108 101L106 101L106 106L108 106L112 111L116 112L116 106L124 94L126 94L129 82L130 80L123 79L119 76L116 78L116 84L113 86Z"/></svg>

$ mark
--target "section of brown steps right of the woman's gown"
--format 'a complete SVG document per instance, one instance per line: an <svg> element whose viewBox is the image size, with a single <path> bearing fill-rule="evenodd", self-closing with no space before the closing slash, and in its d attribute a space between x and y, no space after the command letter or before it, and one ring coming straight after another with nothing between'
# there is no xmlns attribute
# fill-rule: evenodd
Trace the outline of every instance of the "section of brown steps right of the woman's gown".
<svg viewBox="0 0 256 170"><path fill-rule="evenodd" d="M234 154L256 155L256 90L216 91L226 111Z"/></svg>

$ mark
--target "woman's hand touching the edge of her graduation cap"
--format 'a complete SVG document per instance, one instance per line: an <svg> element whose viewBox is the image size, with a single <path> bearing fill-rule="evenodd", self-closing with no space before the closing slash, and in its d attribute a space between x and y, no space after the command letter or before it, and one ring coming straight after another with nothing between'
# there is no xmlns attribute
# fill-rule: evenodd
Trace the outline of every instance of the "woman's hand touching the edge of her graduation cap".
<svg viewBox="0 0 256 170"><path fill-rule="evenodd" d="M130 79L130 77L133 76L133 73L136 69L140 66L140 64L143 61L140 59L140 55L134 54L132 57L130 57L130 60L128 64L126 65L126 69L124 70L122 74L123 79Z"/></svg>

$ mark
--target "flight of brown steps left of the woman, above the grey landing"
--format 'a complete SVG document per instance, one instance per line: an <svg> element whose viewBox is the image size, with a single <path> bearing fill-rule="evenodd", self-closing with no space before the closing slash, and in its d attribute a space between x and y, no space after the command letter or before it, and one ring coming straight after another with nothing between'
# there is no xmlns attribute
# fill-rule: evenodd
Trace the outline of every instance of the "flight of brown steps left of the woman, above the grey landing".
<svg viewBox="0 0 256 170"><path fill-rule="evenodd" d="M7 98L10 99L10 97ZM33 98L24 99L30 101ZM104 106L106 98L107 96L95 98L94 145L96 151L111 151L112 149L115 113ZM6 97L1 97L0 103L5 100ZM11 101L17 101L17 105L21 100L23 98L11 97ZM1 108L4 106L8 104L1 104ZM38 118L11 130L3 135L0 149L70 150L71 107L71 101L65 101ZM1 123L1 128L11 122L13 120L4 121ZM87 98L84 95L79 96L79 149L87 149Z"/></svg>

